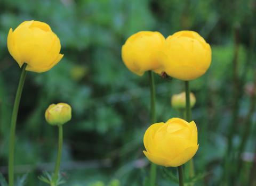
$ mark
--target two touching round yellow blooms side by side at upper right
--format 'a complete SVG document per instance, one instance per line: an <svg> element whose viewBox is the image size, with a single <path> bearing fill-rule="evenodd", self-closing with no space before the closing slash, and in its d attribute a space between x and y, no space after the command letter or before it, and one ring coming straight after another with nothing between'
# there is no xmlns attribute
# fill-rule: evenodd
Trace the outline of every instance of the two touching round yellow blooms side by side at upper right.
<svg viewBox="0 0 256 186"><path fill-rule="evenodd" d="M166 39L159 32L140 31L122 47L123 62L135 74L152 70L184 81L201 77L211 56L210 45L194 31L179 31Z"/></svg>

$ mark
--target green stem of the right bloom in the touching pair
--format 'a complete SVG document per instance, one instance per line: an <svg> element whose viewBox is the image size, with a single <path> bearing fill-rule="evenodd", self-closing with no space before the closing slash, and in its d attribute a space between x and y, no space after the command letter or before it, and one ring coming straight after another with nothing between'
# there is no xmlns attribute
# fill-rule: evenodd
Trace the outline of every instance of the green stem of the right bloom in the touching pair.
<svg viewBox="0 0 256 186"><path fill-rule="evenodd" d="M191 122L191 107L190 107L190 88L189 81L185 81L185 92L186 92L186 117L185 120L187 122ZM194 160L191 158L185 165L185 176L193 177L195 175L194 172ZM193 185L193 184L191 184Z"/></svg>

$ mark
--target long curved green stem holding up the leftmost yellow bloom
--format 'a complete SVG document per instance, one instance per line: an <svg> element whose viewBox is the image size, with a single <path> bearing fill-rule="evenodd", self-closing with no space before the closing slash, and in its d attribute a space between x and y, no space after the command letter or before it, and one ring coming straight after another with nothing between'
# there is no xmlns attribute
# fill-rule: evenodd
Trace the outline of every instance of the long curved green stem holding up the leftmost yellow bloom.
<svg viewBox="0 0 256 186"><path fill-rule="evenodd" d="M20 97L23 89L23 85L25 82L27 71L26 69L27 64L23 64L23 69L20 76L20 82L18 86L18 90L16 93L13 111L12 111L12 119L11 119L11 130L10 130L10 141L9 141L9 162L8 162L8 174L9 174L9 186L14 185L14 143L15 143L15 128L16 128L16 121L18 115L18 109L20 104Z"/></svg>

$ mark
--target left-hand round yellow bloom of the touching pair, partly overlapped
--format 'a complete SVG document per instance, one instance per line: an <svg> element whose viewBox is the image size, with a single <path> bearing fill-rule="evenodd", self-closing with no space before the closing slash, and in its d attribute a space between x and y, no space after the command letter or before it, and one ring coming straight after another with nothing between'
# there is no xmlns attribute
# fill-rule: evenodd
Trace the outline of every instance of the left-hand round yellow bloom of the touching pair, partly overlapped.
<svg viewBox="0 0 256 186"><path fill-rule="evenodd" d="M161 65L156 59L156 50L162 48L165 38L159 32L140 31L129 37L122 47L122 59L133 73L142 76L148 70L157 70Z"/></svg>

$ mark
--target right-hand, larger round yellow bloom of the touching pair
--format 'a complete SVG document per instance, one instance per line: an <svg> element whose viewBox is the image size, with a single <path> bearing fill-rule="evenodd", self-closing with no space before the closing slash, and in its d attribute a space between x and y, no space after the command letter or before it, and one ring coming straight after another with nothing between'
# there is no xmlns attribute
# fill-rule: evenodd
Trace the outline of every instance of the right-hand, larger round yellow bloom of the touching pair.
<svg viewBox="0 0 256 186"><path fill-rule="evenodd" d="M201 77L211 64L212 51L198 33L179 31L167 37L156 54L163 66L154 72L166 72L173 78L188 81Z"/></svg>

